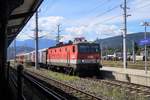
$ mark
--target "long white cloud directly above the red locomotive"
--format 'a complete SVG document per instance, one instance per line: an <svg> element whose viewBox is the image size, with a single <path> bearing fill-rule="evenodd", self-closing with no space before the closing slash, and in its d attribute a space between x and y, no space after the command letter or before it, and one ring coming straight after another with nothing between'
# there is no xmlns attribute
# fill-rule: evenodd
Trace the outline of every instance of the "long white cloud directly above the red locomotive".
<svg viewBox="0 0 150 100"><path fill-rule="evenodd" d="M75 37L85 37L87 40L95 40L97 37L106 38L116 35L121 35L120 29L115 25L96 25L91 24L88 26L74 26L66 28L66 34L64 36L65 41L73 39Z"/></svg>

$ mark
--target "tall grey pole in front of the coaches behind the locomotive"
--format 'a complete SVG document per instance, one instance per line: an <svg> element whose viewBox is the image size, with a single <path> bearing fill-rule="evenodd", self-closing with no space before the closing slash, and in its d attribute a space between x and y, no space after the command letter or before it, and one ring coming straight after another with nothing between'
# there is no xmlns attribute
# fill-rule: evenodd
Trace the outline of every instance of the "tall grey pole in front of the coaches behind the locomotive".
<svg viewBox="0 0 150 100"><path fill-rule="evenodd" d="M36 30L35 30L35 69L38 68L38 11L35 16Z"/></svg>

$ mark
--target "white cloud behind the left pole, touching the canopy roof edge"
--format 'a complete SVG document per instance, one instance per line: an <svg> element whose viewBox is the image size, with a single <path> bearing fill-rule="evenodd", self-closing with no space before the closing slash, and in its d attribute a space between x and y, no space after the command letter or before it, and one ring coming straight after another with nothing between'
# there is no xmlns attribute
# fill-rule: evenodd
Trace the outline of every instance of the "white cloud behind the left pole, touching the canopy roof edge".
<svg viewBox="0 0 150 100"><path fill-rule="evenodd" d="M57 25L64 20L61 16L49 16L39 18L39 37L54 39ZM33 39L35 30L35 18L33 17L23 31L17 36L18 41Z"/></svg>

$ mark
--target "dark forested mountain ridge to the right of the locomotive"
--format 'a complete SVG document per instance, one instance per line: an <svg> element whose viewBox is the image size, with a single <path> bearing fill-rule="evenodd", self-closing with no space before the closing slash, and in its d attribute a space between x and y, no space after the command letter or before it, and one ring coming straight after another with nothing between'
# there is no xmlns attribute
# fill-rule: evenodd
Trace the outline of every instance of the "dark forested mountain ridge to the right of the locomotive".
<svg viewBox="0 0 150 100"><path fill-rule="evenodd" d="M144 32L127 34L126 43L127 48L132 48L132 41L139 43L144 38ZM147 33L147 38L150 38L150 32ZM102 44L103 48L122 48L122 36L115 36L106 39L98 39L96 42Z"/></svg>

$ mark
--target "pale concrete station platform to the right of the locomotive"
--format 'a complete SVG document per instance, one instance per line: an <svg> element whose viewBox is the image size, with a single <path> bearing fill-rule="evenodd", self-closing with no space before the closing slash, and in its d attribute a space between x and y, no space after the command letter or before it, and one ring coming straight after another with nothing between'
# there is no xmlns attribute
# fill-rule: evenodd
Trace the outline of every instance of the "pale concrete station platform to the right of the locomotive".
<svg viewBox="0 0 150 100"><path fill-rule="evenodd" d="M105 79L115 79L150 86L150 71L146 73L145 70L103 66L101 72Z"/></svg>

